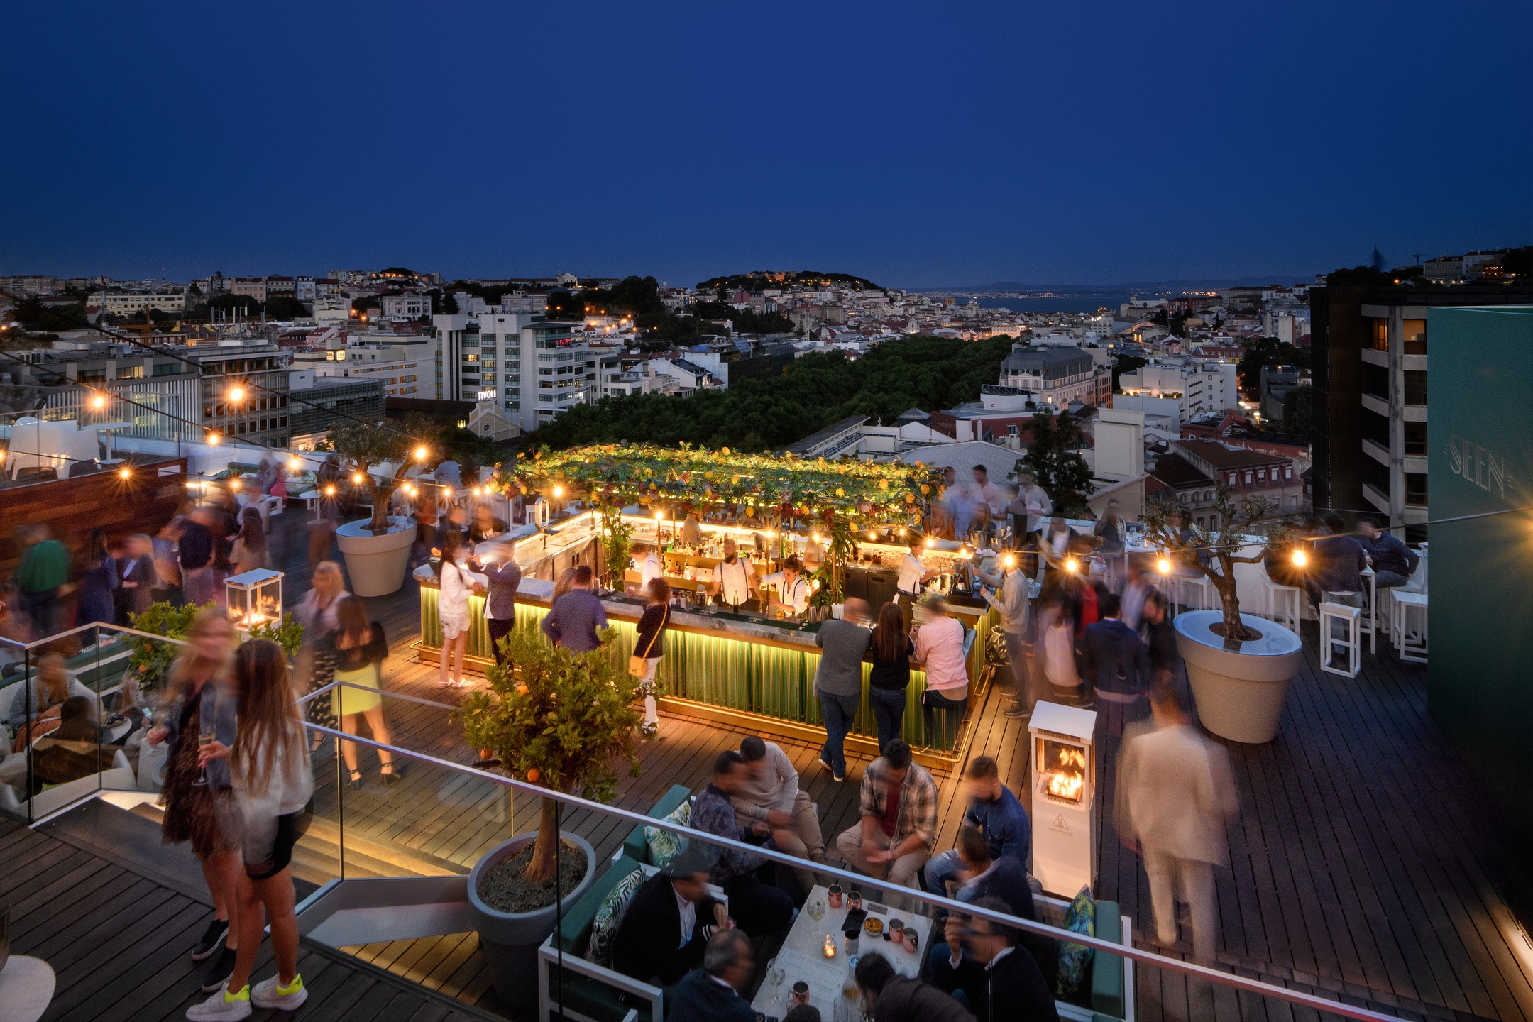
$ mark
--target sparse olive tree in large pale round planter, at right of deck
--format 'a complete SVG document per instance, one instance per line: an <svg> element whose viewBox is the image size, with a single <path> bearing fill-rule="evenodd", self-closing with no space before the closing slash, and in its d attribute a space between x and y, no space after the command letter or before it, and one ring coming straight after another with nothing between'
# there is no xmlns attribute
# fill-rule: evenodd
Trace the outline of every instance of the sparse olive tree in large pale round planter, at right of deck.
<svg viewBox="0 0 1533 1022"><path fill-rule="evenodd" d="M1288 539L1288 527L1279 524L1271 501L1248 498L1236 506L1225 486L1216 510L1219 532L1194 524L1171 501L1151 501L1145 532L1174 565L1208 576L1219 593L1219 610L1185 611L1174 622L1199 720L1231 742L1271 742L1298 673L1300 640L1274 621L1240 613L1236 565L1260 564Z"/></svg>

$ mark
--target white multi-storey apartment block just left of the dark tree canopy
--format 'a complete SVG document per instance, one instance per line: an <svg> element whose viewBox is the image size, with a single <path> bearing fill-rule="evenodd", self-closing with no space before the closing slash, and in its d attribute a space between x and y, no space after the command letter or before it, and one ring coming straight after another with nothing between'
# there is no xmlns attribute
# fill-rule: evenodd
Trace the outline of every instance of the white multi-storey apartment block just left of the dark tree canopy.
<svg viewBox="0 0 1533 1022"><path fill-rule="evenodd" d="M435 394L449 401L500 403L524 432L537 429L596 392L596 366L583 323L532 313L464 313L432 317Z"/></svg>

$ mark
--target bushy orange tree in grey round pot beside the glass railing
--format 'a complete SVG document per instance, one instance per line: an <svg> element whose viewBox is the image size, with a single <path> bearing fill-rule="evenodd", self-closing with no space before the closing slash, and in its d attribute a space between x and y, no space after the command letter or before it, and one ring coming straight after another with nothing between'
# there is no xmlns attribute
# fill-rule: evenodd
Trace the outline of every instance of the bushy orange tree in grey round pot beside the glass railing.
<svg viewBox="0 0 1533 1022"><path fill-rule="evenodd" d="M549 645L535 622L520 624L501 639L504 662L486 670L489 691L475 691L458 711L469 748L509 777L610 800L619 765L639 772L641 723L633 708L638 679L619 667L610 648L615 634L609 630L607 645L576 654ZM555 901L573 904L595 876L595 850L576 834L560 834L550 798L543 800L535 834L518 834L474 866L469 918L507 1004L537 997L537 952L553 932Z"/></svg>

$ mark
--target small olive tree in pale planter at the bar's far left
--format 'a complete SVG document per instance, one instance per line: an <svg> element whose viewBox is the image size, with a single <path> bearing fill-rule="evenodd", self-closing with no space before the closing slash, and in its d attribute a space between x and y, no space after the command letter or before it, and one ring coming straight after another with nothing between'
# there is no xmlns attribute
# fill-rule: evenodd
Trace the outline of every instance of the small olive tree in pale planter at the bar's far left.
<svg viewBox="0 0 1533 1022"><path fill-rule="evenodd" d="M434 457L432 444L425 440L431 432L420 421L405 423L403 429L354 423L330 431L330 449L342 458L343 480L366 490L373 500L371 519L348 521L336 529L351 591L357 596L386 596L405 584L415 522L389 522L389 500L405 483L412 461L425 464Z"/></svg>

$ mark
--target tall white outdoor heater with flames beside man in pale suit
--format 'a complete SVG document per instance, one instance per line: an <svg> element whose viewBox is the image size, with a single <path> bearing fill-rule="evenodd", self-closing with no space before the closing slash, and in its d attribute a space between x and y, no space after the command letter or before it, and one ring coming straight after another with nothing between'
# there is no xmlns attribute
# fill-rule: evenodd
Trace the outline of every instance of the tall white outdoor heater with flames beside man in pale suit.
<svg viewBox="0 0 1533 1022"><path fill-rule="evenodd" d="M1041 702L1033 742L1033 852L1044 890L1075 898L1096 886L1096 712Z"/></svg>

